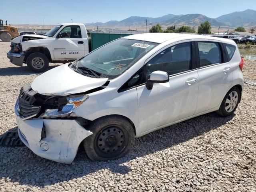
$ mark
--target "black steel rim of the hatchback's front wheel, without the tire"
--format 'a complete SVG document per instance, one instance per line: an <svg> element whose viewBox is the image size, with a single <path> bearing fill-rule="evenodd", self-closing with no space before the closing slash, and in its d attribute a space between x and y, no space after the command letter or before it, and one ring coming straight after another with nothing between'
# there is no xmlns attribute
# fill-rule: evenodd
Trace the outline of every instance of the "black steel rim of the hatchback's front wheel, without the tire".
<svg viewBox="0 0 256 192"><path fill-rule="evenodd" d="M94 148L99 156L112 158L120 154L126 146L128 134L119 125L103 128L95 137Z"/></svg>

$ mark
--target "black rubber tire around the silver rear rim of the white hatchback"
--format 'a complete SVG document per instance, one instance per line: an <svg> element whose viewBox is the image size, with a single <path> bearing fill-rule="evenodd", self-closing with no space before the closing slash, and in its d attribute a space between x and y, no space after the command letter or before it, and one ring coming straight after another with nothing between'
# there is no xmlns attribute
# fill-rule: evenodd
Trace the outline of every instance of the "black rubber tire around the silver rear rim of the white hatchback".
<svg viewBox="0 0 256 192"><path fill-rule="evenodd" d="M227 104L226 104L226 100L227 100L227 98L230 98L230 93L232 93L232 92L236 92L236 93L237 93L237 102L236 102L236 106L234 106L234 108L233 108L233 105L232 105L231 108L230 108L231 111L227 111L227 110L226 110L226 105L227 105ZM240 102L240 100L241 100L241 92L240 92L239 88L238 88L238 87L233 87L233 88L231 88L231 89L228 91L228 93L225 95L224 99L223 99L222 102L221 102L220 108L219 108L218 111L216 111L216 113L219 114L219 115L221 115L221 116L224 116L224 117L230 116L230 115L234 114L234 112L235 112L235 110L236 110L236 108L237 108L238 103ZM232 103L234 104L234 102L232 102Z"/></svg>

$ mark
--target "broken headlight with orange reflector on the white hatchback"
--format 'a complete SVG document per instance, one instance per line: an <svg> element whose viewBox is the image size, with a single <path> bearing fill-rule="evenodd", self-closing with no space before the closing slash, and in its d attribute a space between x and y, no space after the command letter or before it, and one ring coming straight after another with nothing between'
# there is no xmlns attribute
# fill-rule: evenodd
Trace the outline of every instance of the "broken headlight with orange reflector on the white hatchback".
<svg viewBox="0 0 256 192"><path fill-rule="evenodd" d="M64 105L61 109L47 109L41 118L58 118L66 117L72 114L74 108L80 106L89 98L88 95L82 96L69 96L67 97L67 104Z"/></svg>

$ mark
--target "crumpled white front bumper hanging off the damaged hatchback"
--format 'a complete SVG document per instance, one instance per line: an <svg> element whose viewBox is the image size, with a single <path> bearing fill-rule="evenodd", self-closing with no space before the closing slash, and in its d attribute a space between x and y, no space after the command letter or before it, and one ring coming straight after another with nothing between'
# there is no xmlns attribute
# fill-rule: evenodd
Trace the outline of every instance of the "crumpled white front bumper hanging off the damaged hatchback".
<svg viewBox="0 0 256 192"><path fill-rule="evenodd" d="M79 144L92 134L76 120L22 120L17 113L15 116L22 142L38 156L60 163L72 163Z"/></svg>

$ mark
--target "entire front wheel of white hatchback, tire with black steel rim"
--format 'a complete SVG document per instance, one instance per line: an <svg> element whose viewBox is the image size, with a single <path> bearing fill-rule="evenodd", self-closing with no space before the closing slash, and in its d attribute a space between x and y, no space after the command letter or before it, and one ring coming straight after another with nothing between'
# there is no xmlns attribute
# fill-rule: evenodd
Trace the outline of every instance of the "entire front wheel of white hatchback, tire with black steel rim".
<svg viewBox="0 0 256 192"><path fill-rule="evenodd" d="M87 156L95 161L118 159L130 152L134 145L132 124L122 116L106 116L90 125L92 135L84 140Z"/></svg>

